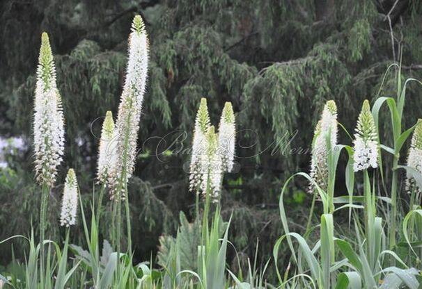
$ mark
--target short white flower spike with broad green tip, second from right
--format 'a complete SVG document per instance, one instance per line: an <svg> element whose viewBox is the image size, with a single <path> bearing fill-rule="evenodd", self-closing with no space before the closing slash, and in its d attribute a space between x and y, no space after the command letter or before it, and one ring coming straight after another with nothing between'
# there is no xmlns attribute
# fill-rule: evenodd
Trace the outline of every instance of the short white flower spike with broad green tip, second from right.
<svg viewBox="0 0 422 289"><path fill-rule="evenodd" d="M357 119L356 133L354 133L354 172L366 170L368 167L377 167L378 146L377 129L373 115L370 113L369 101L366 99Z"/></svg>

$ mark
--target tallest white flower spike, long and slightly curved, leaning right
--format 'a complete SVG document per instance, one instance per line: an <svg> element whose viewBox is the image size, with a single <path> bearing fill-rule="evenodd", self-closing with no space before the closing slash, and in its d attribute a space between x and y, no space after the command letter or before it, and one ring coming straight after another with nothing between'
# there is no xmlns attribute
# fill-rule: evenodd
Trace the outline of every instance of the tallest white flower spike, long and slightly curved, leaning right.
<svg viewBox="0 0 422 289"><path fill-rule="evenodd" d="M148 74L148 36L139 15L134 17L129 37L126 79L116 122L118 132L117 176L120 186L132 176L136 158L139 118Z"/></svg>

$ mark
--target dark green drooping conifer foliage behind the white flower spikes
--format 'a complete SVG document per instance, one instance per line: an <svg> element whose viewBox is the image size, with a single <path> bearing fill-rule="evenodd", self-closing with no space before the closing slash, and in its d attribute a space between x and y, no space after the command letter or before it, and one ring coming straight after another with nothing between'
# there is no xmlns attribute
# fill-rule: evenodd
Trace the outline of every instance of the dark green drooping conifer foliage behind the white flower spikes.
<svg viewBox="0 0 422 289"><path fill-rule="evenodd" d="M417 0L1 1L0 135L23 138L26 149L9 151L9 165L0 169L0 240L29 234L38 224L31 121L42 31L52 42L67 131L65 161L49 204L50 234L63 236L56 220L68 167L77 172L86 208L91 201L98 118L107 110L116 115L130 23L141 14L151 63L130 183L136 259L149 260L159 236L175 233L180 210L192 218L194 195L182 170L189 154L175 149L189 147L201 97L208 99L214 124L225 101L232 101L237 117L241 169L226 174L222 199L226 219L233 212L230 240L253 256L259 238L260 256L267 258L282 233L281 185L292 172L308 170L306 149L325 101L336 100L339 121L352 132L361 102L377 97L400 51L403 78L421 79L421 13ZM382 95L393 96L393 77L386 75ZM409 87L406 126L421 117L415 88ZM185 132L185 140L171 147L175 131ZM166 143L151 137L165 137ZM345 133L340 138L350 143ZM157 147L168 151L157 158ZM311 201L305 190L298 181L287 195L288 216L298 230ZM80 226L72 236L82 244ZM20 245L15 243L17 256ZM1 245L3 265L11 254L10 243Z"/></svg>

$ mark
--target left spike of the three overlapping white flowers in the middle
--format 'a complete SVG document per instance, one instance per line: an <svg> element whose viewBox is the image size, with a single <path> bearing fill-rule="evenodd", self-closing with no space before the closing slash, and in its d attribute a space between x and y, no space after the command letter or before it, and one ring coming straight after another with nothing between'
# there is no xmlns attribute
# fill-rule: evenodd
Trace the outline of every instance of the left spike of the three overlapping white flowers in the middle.
<svg viewBox="0 0 422 289"><path fill-rule="evenodd" d="M191 191L199 192L202 188L203 173L208 166L208 147L205 135L210 126L207 99L202 98L198 113L196 113L192 158L189 168L189 190Z"/></svg>

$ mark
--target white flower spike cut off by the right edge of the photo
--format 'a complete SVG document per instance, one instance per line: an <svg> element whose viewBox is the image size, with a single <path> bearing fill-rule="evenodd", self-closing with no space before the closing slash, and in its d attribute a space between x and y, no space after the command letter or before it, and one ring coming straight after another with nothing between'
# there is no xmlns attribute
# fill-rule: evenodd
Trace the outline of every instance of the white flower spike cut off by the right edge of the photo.
<svg viewBox="0 0 422 289"><path fill-rule="evenodd" d="M422 119L418 119L413 131L412 141L410 142L409 153L407 156L407 166L422 174ZM417 185L414 177L407 173L406 190L409 193L416 191L421 196L421 188Z"/></svg>

